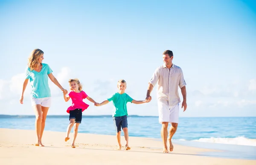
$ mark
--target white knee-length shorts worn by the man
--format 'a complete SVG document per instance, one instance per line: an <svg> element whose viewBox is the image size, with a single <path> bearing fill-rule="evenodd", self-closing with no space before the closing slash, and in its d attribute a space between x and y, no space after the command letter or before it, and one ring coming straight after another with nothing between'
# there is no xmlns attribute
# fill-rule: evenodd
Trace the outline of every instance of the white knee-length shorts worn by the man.
<svg viewBox="0 0 256 165"><path fill-rule="evenodd" d="M160 124L162 124L162 122L179 122L179 104L175 106L169 106L168 104L161 101L158 101L157 104Z"/></svg>

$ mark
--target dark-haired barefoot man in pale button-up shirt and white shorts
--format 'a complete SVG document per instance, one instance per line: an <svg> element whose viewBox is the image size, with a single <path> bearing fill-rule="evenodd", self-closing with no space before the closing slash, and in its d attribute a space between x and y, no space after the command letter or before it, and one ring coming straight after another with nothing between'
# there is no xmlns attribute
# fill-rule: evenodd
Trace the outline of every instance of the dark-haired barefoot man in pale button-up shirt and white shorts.
<svg viewBox="0 0 256 165"><path fill-rule="evenodd" d="M150 93L153 87L158 84L157 88L157 104L159 113L159 123L162 124L161 137L163 140L163 152L167 153L167 135L168 123L172 126L169 130L169 150L173 151L172 136L175 134L179 120L179 103L180 97L178 87L181 89L183 102L181 108L186 110L186 82L180 67L172 64L173 53L171 50L163 52L164 64L158 67L148 84L146 100L151 101ZM158 83L157 83L158 82Z"/></svg>

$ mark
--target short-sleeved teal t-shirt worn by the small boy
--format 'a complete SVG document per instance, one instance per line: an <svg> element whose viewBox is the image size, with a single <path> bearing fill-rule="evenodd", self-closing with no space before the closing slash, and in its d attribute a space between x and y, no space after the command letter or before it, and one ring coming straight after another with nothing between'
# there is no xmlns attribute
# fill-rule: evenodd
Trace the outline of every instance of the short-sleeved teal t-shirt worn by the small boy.
<svg viewBox="0 0 256 165"><path fill-rule="evenodd" d="M128 115L126 104L133 101L133 99L126 93L120 94L119 92L116 92L113 96L108 98L108 101L113 101L113 105L115 106L112 116L119 117Z"/></svg>

